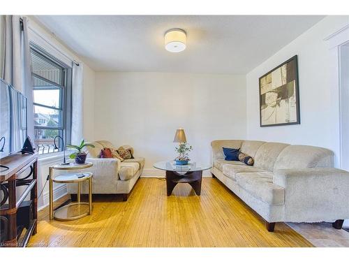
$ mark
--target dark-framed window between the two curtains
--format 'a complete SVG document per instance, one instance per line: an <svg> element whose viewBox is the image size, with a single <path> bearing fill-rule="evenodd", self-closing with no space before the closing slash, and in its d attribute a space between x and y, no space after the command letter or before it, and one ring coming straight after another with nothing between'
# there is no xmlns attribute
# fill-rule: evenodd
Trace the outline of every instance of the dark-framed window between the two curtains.
<svg viewBox="0 0 349 262"><path fill-rule="evenodd" d="M31 65L34 89L34 141L39 154L54 149L54 137L70 143L71 133L71 67L31 44Z"/></svg>

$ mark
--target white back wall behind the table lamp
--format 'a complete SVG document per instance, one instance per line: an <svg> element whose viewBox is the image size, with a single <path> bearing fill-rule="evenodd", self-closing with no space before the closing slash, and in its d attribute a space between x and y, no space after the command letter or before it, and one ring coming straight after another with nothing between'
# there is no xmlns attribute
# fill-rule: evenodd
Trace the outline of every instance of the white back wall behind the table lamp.
<svg viewBox="0 0 349 262"><path fill-rule="evenodd" d="M201 163L211 140L246 134L244 75L98 72L95 99L96 139L133 145L146 169L176 157L179 127Z"/></svg>

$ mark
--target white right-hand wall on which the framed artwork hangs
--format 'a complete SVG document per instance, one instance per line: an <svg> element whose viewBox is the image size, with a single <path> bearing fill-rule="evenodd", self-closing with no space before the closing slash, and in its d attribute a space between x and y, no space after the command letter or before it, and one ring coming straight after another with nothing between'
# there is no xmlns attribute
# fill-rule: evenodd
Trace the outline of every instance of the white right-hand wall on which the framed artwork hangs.
<svg viewBox="0 0 349 262"><path fill-rule="evenodd" d="M337 61L324 38L346 24L348 16L325 17L246 75L247 139L327 147L334 150L338 161L339 94L332 74ZM258 78L295 54L301 124L260 127Z"/></svg>

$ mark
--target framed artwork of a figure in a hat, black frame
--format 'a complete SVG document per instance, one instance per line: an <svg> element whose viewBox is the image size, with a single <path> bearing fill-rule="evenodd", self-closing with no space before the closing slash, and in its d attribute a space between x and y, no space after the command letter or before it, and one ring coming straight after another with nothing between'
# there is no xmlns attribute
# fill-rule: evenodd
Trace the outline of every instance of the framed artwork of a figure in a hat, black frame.
<svg viewBox="0 0 349 262"><path fill-rule="evenodd" d="M297 55L259 79L260 126L300 124Z"/></svg>

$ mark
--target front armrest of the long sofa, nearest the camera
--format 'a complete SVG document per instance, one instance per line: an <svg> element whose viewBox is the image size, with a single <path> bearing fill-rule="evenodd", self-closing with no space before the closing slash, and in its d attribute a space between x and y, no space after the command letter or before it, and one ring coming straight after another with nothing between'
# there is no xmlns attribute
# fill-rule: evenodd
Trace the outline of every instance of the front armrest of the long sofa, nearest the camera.
<svg viewBox="0 0 349 262"><path fill-rule="evenodd" d="M285 189L285 214L288 217L295 212L302 213L299 221L324 221L324 214L331 219L349 217L349 172L345 170L279 169L274 170L273 182Z"/></svg>

